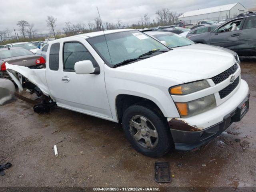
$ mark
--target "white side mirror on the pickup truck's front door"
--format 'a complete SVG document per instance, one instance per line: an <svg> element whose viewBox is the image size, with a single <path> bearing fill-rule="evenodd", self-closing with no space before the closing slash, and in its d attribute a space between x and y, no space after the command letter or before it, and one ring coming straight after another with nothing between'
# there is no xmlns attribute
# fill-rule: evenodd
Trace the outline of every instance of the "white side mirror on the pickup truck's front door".
<svg viewBox="0 0 256 192"><path fill-rule="evenodd" d="M76 74L100 74L100 68L94 67L90 60L78 61L75 63Z"/></svg>

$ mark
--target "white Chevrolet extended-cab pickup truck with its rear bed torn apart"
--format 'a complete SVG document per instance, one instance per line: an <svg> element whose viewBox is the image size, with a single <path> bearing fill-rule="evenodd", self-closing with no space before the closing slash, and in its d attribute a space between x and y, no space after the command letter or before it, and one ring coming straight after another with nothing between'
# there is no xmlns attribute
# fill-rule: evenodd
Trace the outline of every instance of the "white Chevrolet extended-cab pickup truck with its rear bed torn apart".
<svg viewBox="0 0 256 192"><path fill-rule="evenodd" d="M46 58L45 69L6 63L20 90L42 95L36 112L57 104L120 122L132 146L147 156L198 148L248 111L240 66L220 49L171 49L126 29L54 40Z"/></svg>

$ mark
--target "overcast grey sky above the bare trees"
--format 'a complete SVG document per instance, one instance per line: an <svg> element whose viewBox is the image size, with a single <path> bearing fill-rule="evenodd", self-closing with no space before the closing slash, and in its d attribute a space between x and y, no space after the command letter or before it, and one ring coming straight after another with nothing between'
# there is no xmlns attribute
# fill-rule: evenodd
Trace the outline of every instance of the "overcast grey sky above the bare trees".
<svg viewBox="0 0 256 192"><path fill-rule="evenodd" d="M207 2L207 3L206 3ZM38 33L49 32L46 26L47 16L57 18L56 29L64 28L70 21L88 23L98 16L98 6L102 22L117 22L129 25L138 22L143 14L148 13L150 20L155 18L156 10L168 8L178 13L236 3L236 0L0 0L0 31L9 28L18 29L18 20L34 24ZM256 0L240 0L246 8L256 7Z"/></svg>

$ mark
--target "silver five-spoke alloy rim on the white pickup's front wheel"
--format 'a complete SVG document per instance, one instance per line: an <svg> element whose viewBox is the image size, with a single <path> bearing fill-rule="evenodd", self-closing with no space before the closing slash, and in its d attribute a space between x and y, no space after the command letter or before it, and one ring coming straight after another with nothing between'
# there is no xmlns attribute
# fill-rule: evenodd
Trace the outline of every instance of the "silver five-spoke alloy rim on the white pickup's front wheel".
<svg viewBox="0 0 256 192"><path fill-rule="evenodd" d="M158 133L155 126L146 117L136 115L130 119L130 134L144 148L155 148L158 144Z"/></svg>

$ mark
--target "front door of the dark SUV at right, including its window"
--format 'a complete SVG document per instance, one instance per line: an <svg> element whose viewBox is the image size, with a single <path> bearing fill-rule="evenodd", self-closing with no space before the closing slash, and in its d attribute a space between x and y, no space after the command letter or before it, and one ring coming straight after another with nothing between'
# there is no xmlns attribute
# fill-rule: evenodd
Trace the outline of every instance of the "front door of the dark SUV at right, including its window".
<svg viewBox="0 0 256 192"><path fill-rule="evenodd" d="M243 23L244 18L239 18L218 27L210 33L210 44L238 51Z"/></svg>

